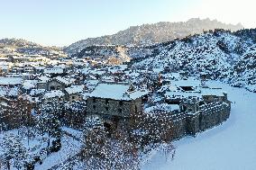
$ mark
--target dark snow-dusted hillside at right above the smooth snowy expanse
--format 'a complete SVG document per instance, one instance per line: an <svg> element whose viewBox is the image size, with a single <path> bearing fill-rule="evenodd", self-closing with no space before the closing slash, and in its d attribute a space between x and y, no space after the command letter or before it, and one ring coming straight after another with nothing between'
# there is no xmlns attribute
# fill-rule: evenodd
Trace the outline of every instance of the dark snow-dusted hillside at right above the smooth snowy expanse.
<svg viewBox="0 0 256 170"><path fill-rule="evenodd" d="M134 67L171 67L190 76L204 73L235 86L256 91L256 29L207 31L182 40L161 43L150 58L135 62Z"/></svg>

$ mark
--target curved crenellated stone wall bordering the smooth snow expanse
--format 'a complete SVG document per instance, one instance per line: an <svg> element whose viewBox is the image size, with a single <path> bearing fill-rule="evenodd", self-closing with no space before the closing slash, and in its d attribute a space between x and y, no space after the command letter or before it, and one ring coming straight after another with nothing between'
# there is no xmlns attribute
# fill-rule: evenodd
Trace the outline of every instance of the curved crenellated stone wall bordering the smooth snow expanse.
<svg viewBox="0 0 256 170"><path fill-rule="evenodd" d="M186 135L196 136L198 132L215 127L226 121L230 115L230 103L207 103L198 112L170 112L173 117L173 139Z"/></svg>

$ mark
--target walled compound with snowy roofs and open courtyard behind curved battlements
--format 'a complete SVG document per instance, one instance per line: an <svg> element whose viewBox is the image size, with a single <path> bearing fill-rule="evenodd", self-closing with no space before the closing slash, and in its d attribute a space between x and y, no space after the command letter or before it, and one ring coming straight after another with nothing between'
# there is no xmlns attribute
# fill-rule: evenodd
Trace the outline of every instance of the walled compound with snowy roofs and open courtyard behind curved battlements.
<svg viewBox="0 0 256 170"><path fill-rule="evenodd" d="M173 120L173 139L196 136L200 131L215 127L229 118L231 102L221 88L200 85L199 81L176 81L160 89ZM148 109L149 110L149 109Z"/></svg>

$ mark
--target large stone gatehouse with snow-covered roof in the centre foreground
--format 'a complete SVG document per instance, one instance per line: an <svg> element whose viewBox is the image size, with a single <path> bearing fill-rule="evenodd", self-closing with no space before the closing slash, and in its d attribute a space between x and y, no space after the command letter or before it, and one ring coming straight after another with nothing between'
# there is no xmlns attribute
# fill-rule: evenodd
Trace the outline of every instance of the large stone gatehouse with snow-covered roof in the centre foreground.
<svg viewBox="0 0 256 170"><path fill-rule="evenodd" d="M147 94L128 84L100 83L87 98L87 113L98 115L105 121L105 127L115 129L131 121L133 114L142 112L143 97Z"/></svg>

